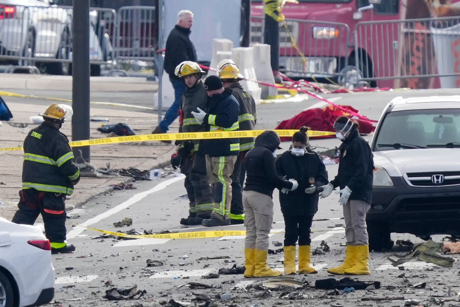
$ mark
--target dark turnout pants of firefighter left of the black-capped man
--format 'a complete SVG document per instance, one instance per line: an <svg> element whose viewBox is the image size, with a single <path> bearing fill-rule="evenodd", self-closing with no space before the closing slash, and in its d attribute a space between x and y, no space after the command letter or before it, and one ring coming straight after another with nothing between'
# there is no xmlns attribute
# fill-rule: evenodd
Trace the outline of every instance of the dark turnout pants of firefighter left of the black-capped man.
<svg viewBox="0 0 460 307"><path fill-rule="evenodd" d="M189 218L210 218L213 212L213 191L208 183L206 159L195 152L181 163L185 174L184 186L189 197Z"/></svg>

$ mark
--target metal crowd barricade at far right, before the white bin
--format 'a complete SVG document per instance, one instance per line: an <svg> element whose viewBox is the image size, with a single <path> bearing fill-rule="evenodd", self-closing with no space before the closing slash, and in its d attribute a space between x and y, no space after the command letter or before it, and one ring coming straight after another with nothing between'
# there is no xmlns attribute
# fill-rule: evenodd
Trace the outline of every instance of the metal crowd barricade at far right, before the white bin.
<svg viewBox="0 0 460 307"><path fill-rule="evenodd" d="M396 79L395 87L460 85L460 17L360 22L355 27L356 62L372 67L364 80ZM417 83L417 84L416 84Z"/></svg>

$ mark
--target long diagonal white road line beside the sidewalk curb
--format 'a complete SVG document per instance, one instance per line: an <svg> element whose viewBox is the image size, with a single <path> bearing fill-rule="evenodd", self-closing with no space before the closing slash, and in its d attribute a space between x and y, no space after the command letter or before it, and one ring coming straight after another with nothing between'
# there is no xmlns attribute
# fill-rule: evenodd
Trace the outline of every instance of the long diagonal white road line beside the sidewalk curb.
<svg viewBox="0 0 460 307"><path fill-rule="evenodd" d="M116 207L113 207L112 209L107 210L106 212L101 213L101 214L95 216L94 218L88 219L86 222L83 222L80 225L75 226L72 230L70 230L69 233L67 234L67 239L73 239L76 236L80 235L84 230L86 230L86 228L83 227L83 226L89 226L91 224L99 222L100 220L102 220L104 218L108 218L110 215L115 214L117 212L120 212L121 210L126 209L127 207L129 207L129 206L135 204L136 202L142 200L147 195L155 193L155 192L158 192L161 189L166 188L171 183L175 183L176 181L183 180L184 177L185 176L173 177L171 179L168 179L166 181L158 183L152 189L144 191L144 192L141 192L141 193L138 193L138 194L132 196L127 201L121 203L120 205L118 205Z"/></svg>

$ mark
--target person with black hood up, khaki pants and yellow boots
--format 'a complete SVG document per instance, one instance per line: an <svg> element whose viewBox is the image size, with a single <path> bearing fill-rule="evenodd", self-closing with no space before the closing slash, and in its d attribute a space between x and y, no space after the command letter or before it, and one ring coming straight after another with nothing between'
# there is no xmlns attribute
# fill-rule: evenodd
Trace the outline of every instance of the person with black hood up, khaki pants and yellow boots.
<svg viewBox="0 0 460 307"><path fill-rule="evenodd" d="M254 148L244 157L246 186L243 189L244 225L246 239L244 277L270 277L282 273L267 265L271 224L273 223L273 190L295 190L295 180L283 180L276 175L275 151L280 145L275 131L267 130L256 137Z"/></svg>

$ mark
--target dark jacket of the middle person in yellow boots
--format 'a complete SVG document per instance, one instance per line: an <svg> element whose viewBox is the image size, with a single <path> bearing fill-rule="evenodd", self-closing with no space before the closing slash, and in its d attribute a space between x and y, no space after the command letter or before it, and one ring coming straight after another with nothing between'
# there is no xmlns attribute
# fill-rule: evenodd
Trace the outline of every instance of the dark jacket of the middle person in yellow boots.
<svg viewBox="0 0 460 307"><path fill-rule="evenodd" d="M319 191L305 193L305 189L311 184L316 188L328 184L328 172L316 153L307 151L303 156L296 157L288 150L276 159L276 173L299 183L299 187L288 194L280 193L281 211L284 215L313 215L318 211Z"/></svg>

